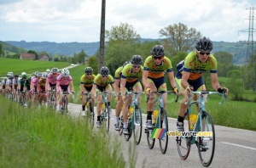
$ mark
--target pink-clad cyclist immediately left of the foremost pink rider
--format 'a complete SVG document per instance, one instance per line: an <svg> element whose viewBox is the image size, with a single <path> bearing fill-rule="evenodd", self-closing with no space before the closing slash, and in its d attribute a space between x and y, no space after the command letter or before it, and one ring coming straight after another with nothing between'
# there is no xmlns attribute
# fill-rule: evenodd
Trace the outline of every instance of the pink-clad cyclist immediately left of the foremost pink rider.
<svg viewBox="0 0 256 168"><path fill-rule="evenodd" d="M58 68L52 68L50 73L47 75L45 83L45 91L56 91L56 79L57 76L61 75ZM50 92L47 92L47 100L50 98ZM55 104L57 104L57 93L55 92Z"/></svg>

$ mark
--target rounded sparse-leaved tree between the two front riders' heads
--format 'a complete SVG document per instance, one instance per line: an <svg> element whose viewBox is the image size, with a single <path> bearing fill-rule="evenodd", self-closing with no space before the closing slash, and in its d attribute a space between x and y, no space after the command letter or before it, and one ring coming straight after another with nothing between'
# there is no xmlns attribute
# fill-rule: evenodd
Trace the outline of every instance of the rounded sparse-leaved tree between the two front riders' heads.
<svg viewBox="0 0 256 168"><path fill-rule="evenodd" d="M201 32L195 28L188 28L182 23L168 25L159 31L160 36L165 36L163 39L164 47L173 55L180 51L187 52L193 50L195 42L201 37Z"/></svg>

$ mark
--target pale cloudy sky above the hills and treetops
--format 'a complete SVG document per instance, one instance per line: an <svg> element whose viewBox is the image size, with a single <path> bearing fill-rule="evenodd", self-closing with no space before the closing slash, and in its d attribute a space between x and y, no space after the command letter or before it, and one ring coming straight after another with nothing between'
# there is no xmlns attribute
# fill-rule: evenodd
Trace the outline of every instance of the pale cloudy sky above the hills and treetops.
<svg viewBox="0 0 256 168"><path fill-rule="evenodd" d="M212 41L238 42L248 39L241 31L248 30L250 7L255 0L106 0L105 29L127 23L155 39L182 23ZM99 42L101 14L102 0L1 0L0 41Z"/></svg>

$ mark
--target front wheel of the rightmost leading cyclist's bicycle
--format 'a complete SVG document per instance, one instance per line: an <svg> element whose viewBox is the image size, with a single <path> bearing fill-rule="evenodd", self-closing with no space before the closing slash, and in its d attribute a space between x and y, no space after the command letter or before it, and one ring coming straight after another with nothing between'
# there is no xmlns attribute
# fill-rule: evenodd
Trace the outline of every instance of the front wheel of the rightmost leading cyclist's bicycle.
<svg viewBox="0 0 256 168"><path fill-rule="evenodd" d="M204 132L202 137L197 137L197 148L201 164L205 167L211 165L214 150L215 150L215 131L212 116L207 112L202 114L202 126L201 132ZM209 133L212 132L212 133Z"/></svg>

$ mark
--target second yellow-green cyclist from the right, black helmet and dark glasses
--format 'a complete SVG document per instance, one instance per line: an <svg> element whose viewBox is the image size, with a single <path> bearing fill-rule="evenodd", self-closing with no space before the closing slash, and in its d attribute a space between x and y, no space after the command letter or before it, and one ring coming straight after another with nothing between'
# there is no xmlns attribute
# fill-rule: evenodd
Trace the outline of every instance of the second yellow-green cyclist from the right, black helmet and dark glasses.
<svg viewBox="0 0 256 168"><path fill-rule="evenodd" d="M143 69L143 87L145 89L145 93L149 96L149 101L147 104L147 122L146 127L148 129L153 129L152 125L152 113L154 108L154 96L150 94L150 91L166 91L166 81L165 81L165 70L167 72L167 76L169 77L170 83L174 92L177 91L173 70L172 70L172 62L165 56L165 49L161 45L155 45L151 51L152 55L148 56L148 58L144 62ZM163 94L163 103L164 109L166 109L166 98L167 93Z"/></svg>

